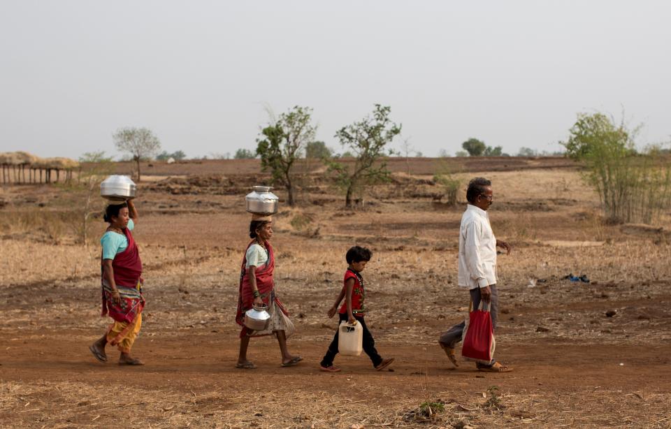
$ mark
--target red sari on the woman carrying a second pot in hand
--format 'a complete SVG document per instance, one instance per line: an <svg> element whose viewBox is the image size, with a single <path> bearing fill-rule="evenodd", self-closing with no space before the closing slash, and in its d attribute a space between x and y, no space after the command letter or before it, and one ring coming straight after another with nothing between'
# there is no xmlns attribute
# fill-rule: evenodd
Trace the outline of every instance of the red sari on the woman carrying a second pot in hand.
<svg viewBox="0 0 671 429"><path fill-rule="evenodd" d="M253 245L255 240L252 240L247 249ZM280 308L282 313L287 316L289 313L284 309L284 305L280 302L279 299L275 296L275 281L273 280L273 271L275 270L275 254L273 253L273 247L270 246L269 242L264 243L266 249L268 249L268 261L266 264L261 267L257 267L254 271L257 278L257 289L261 293L261 300L264 301L265 305L270 307L273 303L277 303L277 307ZM254 331L248 329L245 326L245 312L252 308L254 304L254 295L252 293L252 283L250 282L250 270L247 266L247 249L245 249L245 256L243 257L243 266L240 269L240 287L238 289L238 312L236 313L236 322L238 325L242 326L243 329L240 330L240 338L250 336L261 336L254 335ZM269 334L264 334L269 335Z"/></svg>

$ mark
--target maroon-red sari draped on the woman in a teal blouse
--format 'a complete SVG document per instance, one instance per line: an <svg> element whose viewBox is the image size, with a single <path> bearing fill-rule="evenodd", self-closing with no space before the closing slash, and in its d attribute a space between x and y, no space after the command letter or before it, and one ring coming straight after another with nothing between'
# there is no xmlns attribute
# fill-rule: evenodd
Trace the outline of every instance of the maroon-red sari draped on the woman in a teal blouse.
<svg viewBox="0 0 671 429"><path fill-rule="evenodd" d="M114 282L121 295L121 304L117 305L112 300L112 288L105 281L101 260L101 289L103 294L101 316L109 314L115 321L129 323L129 326L131 326L145 307L145 300L142 296L140 252L131 230L125 228L124 233L128 239L128 247L123 252L116 254L112 261Z"/></svg>

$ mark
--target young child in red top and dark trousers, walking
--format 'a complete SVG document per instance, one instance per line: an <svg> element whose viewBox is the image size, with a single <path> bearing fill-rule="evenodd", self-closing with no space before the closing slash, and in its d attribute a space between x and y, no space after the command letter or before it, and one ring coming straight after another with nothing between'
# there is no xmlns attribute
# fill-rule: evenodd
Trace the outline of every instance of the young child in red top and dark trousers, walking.
<svg viewBox="0 0 671 429"><path fill-rule="evenodd" d="M327 314L329 314L329 317L333 317L338 310L340 301L342 301L342 298L345 298L345 303L340 307L340 321L338 321L338 325L344 320L349 321L349 323L361 323L363 327L363 351L366 351L366 354L370 357L370 361L373 361L375 369L380 371L391 365L394 362L394 358L383 359L377 354L373 335L370 335L370 330L366 327L366 321L363 321L363 316L366 312L366 307L363 305L366 291L363 289L361 271L363 271L363 268L366 268L366 263L370 261L370 256L372 255L366 247L354 246L347 251L345 259L348 266L347 271L345 271L345 285L342 286L338 299L335 300L335 304L333 304L333 307L329 309ZM322 371L340 371L340 368L333 366L333 358L335 358L336 354L338 354L338 330L335 330L335 337L333 337L329 350L326 351L322 362L319 364Z"/></svg>

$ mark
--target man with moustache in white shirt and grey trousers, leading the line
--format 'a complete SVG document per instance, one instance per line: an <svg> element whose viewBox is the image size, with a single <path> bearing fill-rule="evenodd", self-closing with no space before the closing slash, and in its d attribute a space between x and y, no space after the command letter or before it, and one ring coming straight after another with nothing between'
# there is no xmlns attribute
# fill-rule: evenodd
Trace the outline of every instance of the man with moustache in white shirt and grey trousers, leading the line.
<svg viewBox="0 0 671 429"><path fill-rule="evenodd" d="M496 240L487 209L493 200L491 182L483 177L476 177L468 183L466 191L468 205L461 217L459 231L459 286L468 288L474 309L484 303L490 303L491 323L496 328L498 316L498 293L496 291L496 247L505 249L510 254L507 242ZM454 366L459 366L454 355L456 343L461 341L465 322L452 326L440 335L438 343ZM492 361L487 364L477 363L477 369L487 372L509 372L512 368Z"/></svg>

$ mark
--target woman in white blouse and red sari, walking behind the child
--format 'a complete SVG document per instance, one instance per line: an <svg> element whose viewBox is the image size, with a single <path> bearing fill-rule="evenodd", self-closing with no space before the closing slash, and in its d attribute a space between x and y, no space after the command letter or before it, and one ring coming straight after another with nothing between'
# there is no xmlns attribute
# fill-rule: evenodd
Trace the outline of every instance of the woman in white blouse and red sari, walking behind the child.
<svg viewBox="0 0 671 429"><path fill-rule="evenodd" d="M257 368L254 363L247 360L247 347L250 345L251 337L263 335L275 335L280 343L282 352L282 366L294 366L302 361L301 356L293 356L287 349L287 337L294 332L294 323L289 320L289 313L284 309L282 302L275 296L275 282L273 281L273 270L275 270L275 255L273 247L270 246L270 238L273 237L273 224L270 217L252 220L250 224L250 238L252 242L247 245L243 266L240 271L240 289L238 291L238 312L236 322L243 326L240 331L240 354L236 368L253 370ZM270 314L270 322L265 330L250 330L244 325L245 312L252 305L267 305Z"/></svg>

